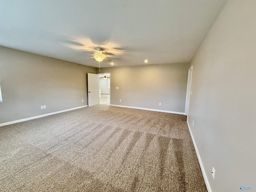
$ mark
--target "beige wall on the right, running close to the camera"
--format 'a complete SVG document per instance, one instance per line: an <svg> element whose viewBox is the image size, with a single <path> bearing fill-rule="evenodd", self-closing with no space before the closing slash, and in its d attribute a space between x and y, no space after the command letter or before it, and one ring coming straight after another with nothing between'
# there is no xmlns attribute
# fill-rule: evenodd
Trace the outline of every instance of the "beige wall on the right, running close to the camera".
<svg viewBox="0 0 256 192"><path fill-rule="evenodd" d="M188 122L212 191L256 186L256 1L228 1L191 65Z"/></svg>

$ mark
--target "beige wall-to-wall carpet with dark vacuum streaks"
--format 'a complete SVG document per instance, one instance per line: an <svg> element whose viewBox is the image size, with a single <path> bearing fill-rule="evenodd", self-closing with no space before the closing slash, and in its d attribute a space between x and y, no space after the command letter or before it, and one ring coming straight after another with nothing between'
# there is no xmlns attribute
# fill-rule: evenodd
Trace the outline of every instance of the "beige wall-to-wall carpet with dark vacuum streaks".
<svg viewBox="0 0 256 192"><path fill-rule="evenodd" d="M184 115L98 105L0 127L0 191L206 192Z"/></svg>

